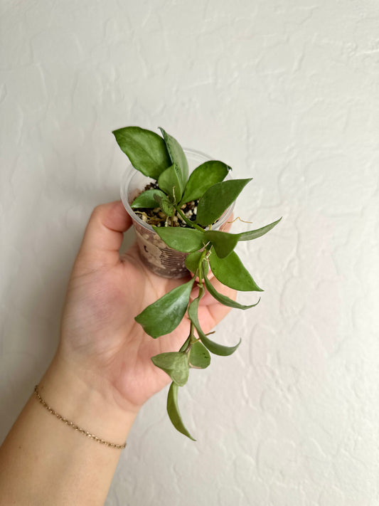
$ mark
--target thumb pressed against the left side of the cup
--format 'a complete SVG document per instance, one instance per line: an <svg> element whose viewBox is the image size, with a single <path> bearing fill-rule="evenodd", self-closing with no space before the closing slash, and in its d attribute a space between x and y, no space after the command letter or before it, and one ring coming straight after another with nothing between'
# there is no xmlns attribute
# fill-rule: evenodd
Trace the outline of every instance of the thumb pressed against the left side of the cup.
<svg viewBox="0 0 379 506"><path fill-rule="evenodd" d="M93 262L96 266L118 263L123 232L131 224L132 218L121 201L95 207L87 223L78 256L85 257L87 262Z"/></svg>

